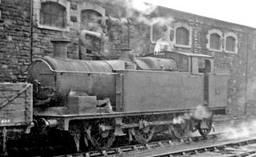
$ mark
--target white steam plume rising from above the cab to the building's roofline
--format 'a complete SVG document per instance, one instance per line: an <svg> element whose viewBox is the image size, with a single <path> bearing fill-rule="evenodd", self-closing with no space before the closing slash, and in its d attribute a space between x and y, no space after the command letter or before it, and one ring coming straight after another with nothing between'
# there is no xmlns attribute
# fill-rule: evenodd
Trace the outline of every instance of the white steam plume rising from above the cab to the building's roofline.
<svg viewBox="0 0 256 157"><path fill-rule="evenodd" d="M120 0L114 0L113 2L120 3ZM172 50L174 43L170 40L170 29L172 29L172 22L174 18L161 17L158 14L158 6L151 5L143 2L142 0L125 0L122 1L122 6L126 7L126 18L131 20L131 23L140 23L146 26L157 26L158 28L164 28L160 30L160 37L156 38L156 45L154 47L154 54L157 55L159 52L164 50ZM156 16L154 18L154 16ZM154 30L152 30L154 31Z"/></svg>

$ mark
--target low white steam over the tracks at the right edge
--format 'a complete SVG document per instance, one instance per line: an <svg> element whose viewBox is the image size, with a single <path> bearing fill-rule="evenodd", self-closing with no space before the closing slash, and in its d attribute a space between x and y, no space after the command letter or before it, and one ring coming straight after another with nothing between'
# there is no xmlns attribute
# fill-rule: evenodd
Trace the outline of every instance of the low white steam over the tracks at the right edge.
<svg viewBox="0 0 256 157"><path fill-rule="evenodd" d="M222 129L222 140L228 139L242 139L242 138L249 138L250 136L255 135L254 128L256 127L256 121L251 123L243 123L238 124L234 127L227 127Z"/></svg>

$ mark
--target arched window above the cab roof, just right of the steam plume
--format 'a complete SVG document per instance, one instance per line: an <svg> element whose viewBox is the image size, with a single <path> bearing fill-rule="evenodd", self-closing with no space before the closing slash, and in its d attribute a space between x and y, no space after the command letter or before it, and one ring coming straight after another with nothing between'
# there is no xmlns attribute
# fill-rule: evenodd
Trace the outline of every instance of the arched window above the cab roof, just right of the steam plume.
<svg viewBox="0 0 256 157"><path fill-rule="evenodd" d="M185 27L178 27L176 29L176 44L190 45L190 31Z"/></svg>

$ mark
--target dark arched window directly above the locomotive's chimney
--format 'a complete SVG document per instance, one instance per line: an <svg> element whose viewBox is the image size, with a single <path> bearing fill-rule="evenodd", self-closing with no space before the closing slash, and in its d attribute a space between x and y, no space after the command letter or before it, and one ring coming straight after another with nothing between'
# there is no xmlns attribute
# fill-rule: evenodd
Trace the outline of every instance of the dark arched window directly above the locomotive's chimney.
<svg viewBox="0 0 256 157"><path fill-rule="evenodd" d="M66 7L57 2L42 2L40 24L58 28L66 27Z"/></svg>

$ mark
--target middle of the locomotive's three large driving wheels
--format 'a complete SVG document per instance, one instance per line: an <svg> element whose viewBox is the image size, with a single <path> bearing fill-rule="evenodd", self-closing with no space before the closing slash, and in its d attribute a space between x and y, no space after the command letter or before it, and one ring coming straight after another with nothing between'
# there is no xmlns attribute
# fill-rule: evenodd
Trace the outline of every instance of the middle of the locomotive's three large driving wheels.
<svg viewBox="0 0 256 157"><path fill-rule="evenodd" d="M154 127L134 128L134 138L138 143L149 143L154 136Z"/></svg>

